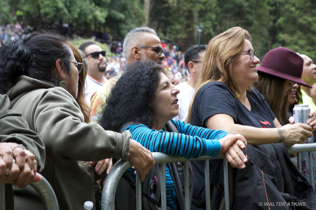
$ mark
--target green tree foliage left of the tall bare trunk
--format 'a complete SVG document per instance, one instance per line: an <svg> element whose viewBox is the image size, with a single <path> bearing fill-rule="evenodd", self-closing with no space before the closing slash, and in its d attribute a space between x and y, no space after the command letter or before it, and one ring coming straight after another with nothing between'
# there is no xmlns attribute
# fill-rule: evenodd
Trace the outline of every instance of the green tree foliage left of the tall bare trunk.
<svg viewBox="0 0 316 210"><path fill-rule="evenodd" d="M1 24L15 22L15 11L20 10L21 20L34 28L55 29L67 23L86 36L102 31L123 38L144 21L140 0L2 0L0 6Z"/></svg>

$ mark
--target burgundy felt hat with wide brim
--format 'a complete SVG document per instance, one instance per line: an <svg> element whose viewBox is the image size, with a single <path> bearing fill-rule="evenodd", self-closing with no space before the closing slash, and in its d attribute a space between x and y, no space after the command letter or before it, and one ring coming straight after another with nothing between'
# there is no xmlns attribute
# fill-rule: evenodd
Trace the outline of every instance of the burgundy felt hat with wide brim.
<svg viewBox="0 0 316 210"><path fill-rule="evenodd" d="M263 58L258 71L281 77L311 88L301 80L304 60L294 51L278 47L270 50Z"/></svg>

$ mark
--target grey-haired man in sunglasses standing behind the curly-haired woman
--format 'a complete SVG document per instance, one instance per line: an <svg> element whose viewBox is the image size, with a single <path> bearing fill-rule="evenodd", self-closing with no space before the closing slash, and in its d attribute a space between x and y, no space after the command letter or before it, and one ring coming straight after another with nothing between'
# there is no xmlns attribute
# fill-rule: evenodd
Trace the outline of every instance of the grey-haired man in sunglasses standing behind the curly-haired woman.
<svg viewBox="0 0 316 210"><path fill-rule="evenodd" d="M129 31L124 38L123 52L127 63L136 60L152 60L161 64L165 58L161 41L154 29L149 27L137 27ZM112 77L109 82L103 85L91 99L90 120L97 121L102 115L103 106L115 83L118 81L122 72L118 76Z"/></svg>

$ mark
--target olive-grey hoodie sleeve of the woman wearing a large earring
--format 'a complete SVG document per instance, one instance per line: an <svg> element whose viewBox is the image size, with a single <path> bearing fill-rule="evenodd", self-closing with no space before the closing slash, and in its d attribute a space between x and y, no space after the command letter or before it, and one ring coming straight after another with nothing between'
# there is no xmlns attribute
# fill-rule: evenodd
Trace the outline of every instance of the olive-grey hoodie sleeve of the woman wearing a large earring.
<svg viewBox="0 0 316 210"><path fill-rule="evenodd" d="M55 164L66 166L72 160L99 161L129 157L129 131L121 134L104 130L99 124L84 123L76 100L62 88L42 91L34 101L34 130L42 138L46 154Z"/></svg>

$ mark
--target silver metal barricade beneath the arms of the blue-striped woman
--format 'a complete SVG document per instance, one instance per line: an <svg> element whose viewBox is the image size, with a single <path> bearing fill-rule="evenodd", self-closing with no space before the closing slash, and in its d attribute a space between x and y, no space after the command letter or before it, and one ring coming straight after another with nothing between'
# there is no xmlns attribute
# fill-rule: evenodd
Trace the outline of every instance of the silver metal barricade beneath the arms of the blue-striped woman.
<svg viewBox="0 0 316 210"><path fill-rule="evenodd" d="M190 209L189 198L189 164L188 161L204 160L204 172L205 172L205 196L206 196L206 209L210 209L210 171L209 171L209 160L210 159L221 159L223 157L210 158L209 156L203 156L199 158L185 159L184 157L167 155L161 152L153 152L153 158L156 164L160 164L161 171L161 209L167 209L167 199L166 199L166 171L165 163L171 162L184 162L184 180L185 180L185 210ZM114 210L114 197L116 188L119 184L123 173L132 167L130 161L119 160L114 164L110 173L107 175L106 181L104 183L102 197L101 197L101 210ZM229 210L229 197L228 195L228 162L224 159L224 193L225 193L225 209ZM140 175L137 171L136 176L136 209L142 209L142 188Z"/></svg>

